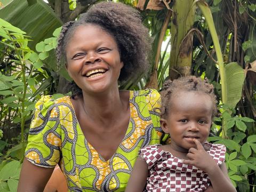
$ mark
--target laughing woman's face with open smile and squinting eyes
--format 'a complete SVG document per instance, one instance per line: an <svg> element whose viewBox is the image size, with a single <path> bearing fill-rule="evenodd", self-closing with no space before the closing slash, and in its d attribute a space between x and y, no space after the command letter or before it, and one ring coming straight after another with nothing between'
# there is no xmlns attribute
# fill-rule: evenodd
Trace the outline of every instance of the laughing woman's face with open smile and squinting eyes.
<svg viewBox="0 0 256 192"><path fill-rule="evenodd" d="M115 39L99 26L78 26L66 46L67 71L85 93L117 89L123 67Z"/></svg>

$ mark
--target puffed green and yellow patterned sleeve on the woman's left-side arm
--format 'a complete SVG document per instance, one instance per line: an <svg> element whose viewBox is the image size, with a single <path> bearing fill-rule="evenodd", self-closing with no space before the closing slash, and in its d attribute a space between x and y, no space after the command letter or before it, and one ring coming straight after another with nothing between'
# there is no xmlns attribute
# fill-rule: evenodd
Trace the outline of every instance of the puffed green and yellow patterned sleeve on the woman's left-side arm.
<svg viewBox="0 0 256 192"><path fill-rule="evenodd" d="M54 167L59 163L61 154L59 112L50 95L42 97L36 103L25 150L25 157L31 163L43 167Z"/></svg>

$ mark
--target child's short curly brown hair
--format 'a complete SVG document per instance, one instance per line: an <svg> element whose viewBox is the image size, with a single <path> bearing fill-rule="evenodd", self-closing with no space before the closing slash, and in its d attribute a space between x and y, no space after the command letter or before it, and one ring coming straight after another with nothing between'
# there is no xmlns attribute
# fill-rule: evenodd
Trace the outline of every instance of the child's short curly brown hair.
<svg viewBox="0 0 256 192"><path fill-rule="evenodd" d="M202 80L199 77L187 76L180 77L171 81L170 79L164 82L163 89L161 92L162 107L161 107L161 117L166 118L171 107L170 100L172 96L179 91L194 91L201 94L207 94L211 97L213 103L212 117L217 114L217 100L214 94L214 87L212 84L208 83L207 78Z"/></svg>

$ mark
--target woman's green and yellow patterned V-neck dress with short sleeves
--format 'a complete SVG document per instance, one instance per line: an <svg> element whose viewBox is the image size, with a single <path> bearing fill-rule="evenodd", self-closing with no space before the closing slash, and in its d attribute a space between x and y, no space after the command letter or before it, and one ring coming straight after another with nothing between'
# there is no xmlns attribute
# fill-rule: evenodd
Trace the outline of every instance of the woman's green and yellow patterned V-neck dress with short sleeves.
<svg viewBox="0 0 256 192"><path fill-rule="evenodd" d="M84 137L69 97L36 103L25 156L33 164L59 164L69 191L124 191L140 148L165 140L156 90L130 91L130 122L116 153L105 161ZM103 143L102 143L103 145Z"/></svg>

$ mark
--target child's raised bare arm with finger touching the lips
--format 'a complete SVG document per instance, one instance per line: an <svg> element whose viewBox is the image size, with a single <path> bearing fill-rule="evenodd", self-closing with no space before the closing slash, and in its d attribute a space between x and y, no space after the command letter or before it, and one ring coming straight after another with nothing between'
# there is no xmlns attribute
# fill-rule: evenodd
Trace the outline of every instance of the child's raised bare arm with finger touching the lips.
<svg viewBox="0 0 256 192"><path fill-rule="evenodd" d="M187 157L190 160L183 160L183 163L198 167L209 175L214 191L236 192L235 187L230 182L228 170L225 163L220 166L215 163L213 158L204 150L202 144L194 139L197 149L190 148Z"/></svg>

